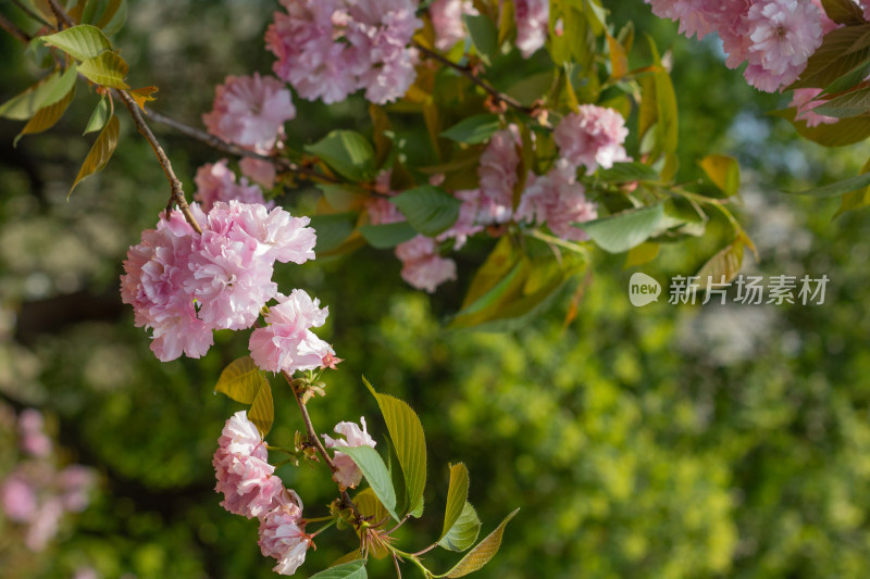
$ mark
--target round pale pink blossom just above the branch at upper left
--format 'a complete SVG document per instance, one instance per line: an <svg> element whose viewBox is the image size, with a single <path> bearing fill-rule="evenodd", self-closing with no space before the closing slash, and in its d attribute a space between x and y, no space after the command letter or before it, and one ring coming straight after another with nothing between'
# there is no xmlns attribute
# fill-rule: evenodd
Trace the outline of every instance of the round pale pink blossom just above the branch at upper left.
<svg viewBox="0 0 870 579"><path fill-rule="evenodd" d="M277 78L253 73L227 76L202 122L215 137L269 154L284 139L284 123L295 116L290 91Z"/></svg>

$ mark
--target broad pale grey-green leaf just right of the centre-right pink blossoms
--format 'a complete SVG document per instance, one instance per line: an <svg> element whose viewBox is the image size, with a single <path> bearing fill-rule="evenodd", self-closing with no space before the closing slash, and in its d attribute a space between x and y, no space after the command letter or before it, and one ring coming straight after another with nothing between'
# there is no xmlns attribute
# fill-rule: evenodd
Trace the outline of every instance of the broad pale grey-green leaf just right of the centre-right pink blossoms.
<svg viewBox="0 0 870 579"><path fill-rule="evenodd" d="M680 223L664 213L662 203L657 203L584 222L580 226L602 250L608 253L622 253Z"/></svg>

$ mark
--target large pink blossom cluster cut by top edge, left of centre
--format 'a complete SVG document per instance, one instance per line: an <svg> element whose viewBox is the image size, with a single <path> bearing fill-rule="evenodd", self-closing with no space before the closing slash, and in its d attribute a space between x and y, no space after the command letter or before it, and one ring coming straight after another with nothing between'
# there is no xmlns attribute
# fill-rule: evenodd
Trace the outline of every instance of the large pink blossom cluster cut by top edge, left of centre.
<svg viewBox="0 0 870 579"><path fill-rule="evenodd" d="M278 59L273 70L300 97L325 103L365 89L384 104L413 83L415 50L409 48L422 26L415 0L282 0L265 42Z"/></svg>

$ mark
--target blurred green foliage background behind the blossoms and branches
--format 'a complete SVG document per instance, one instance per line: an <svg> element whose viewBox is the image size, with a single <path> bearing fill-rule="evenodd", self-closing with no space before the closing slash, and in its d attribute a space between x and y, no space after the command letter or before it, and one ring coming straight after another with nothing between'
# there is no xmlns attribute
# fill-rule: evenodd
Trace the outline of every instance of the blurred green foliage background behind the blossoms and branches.
<svg viewBox="0 0 870 579"><path fill-rule="evenodd" d="M277 3L264 0L130 2L116 45L133 86L160 87L156 110L199 124L227 74L268 73L262 33ZM408 525L412 545L440 530L447 463L464 461L471 502L493 529L519 516L483 578L862 578L870 575L870 217L832 221L836 201L782 194L855 175L870 150L800 141L766 112L787 98L748 88L724 67L714 38L676 37L639 0L607 2L618 25L634 21L670 47L680 104L681 177L695 160L735 155L742 219L758 246L744 273L830 278L823 305L669 305L627 300L633 270L597 254L564 324L572 292L513 333L446 331L445 317L492 247L459 255L460 278L436 295L411 290L389 252L362 249L277 272L330 306L321 335L347 361L311 403L321 431L365 415L386 429L361 382L420 413L430 451L428 516ZM9 2L8 16L18 18ZM638 45L642 42L638 42ZM643 50L633 63L645 64ZM23 47L0 37L0 98L38 72ZM499 79L508 81L510 79ZM39 408L54 440L53 468L96 473L89 506L66 514L34 552L26 528L0 515L0 577L270 577L254 521L229 515L213 491L211 456L224 420L241 406L212 388L244 355L247 336L219 333L199 361L159 363L120 302L121 262L153 227L169 189L127 118L110 165L66 193L90 139L96 103L84 88L49 134L12 140L0 121L0 479L25 461L15 414ZM371 127L365 103L297 103L287 125L302 143L333 128ZM221 158L154 126L176 171ZM281 202L310 212L312 191ZM641 269L661 281L693 274L728 240L708 236L667 248ZM571 290L576 289L571 288ZM276 387L275 443L301 428ZM324 509L325 471L284 466L286 484ZM350 551L330 531L297 574ZM409 536L406 536L409 537ZM418 546L419 545L419 546ZM433 552L446 570L455 554ZM370 566L372 577L391 568ZM412 576L415 571L406 568Z"/></svg>

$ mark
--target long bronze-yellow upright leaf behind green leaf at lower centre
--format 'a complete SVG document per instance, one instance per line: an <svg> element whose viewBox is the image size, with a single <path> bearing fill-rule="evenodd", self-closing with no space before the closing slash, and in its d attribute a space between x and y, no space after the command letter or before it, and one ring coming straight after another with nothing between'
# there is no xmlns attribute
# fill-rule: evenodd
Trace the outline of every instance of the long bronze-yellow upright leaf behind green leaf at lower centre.
<svg viewBox="0 0 870 579"><path fill-rule="evenodd" d="M393 441L396 457L405 475L408 504L412 505L412 508L417 507L426 487L426 438L423 425L411 406L397 398L376 392L365 377L362 380L377 401L389 430L389 439Z"/></svg>

